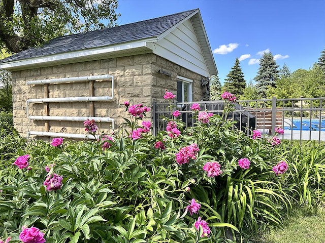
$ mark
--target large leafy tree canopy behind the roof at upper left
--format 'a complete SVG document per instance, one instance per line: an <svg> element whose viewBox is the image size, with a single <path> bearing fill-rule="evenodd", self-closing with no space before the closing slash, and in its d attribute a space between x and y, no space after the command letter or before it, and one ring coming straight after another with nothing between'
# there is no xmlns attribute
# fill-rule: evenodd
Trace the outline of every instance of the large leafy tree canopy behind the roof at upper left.
<svg viewBox="0 0 325 243"><path fill-rule="evenodd" d="M117 6L117 0L2 0L0 42L17 53L64 34L115 26Z"/></svg>

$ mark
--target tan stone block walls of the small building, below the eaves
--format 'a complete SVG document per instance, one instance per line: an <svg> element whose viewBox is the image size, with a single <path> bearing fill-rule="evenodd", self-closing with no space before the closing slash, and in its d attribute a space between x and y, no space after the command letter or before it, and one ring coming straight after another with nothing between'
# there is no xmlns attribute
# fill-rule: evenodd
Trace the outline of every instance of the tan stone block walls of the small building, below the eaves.
<svg viewBox="0 0 325 243"><path fill-rule="evenodd" d="M159 72L167 70L170 75ZM201 100L203 88L201 75L154 54L141 54L104 60L56 65L12 73L13 81L13 115L14 126L22 136L28 131L47 132L44 120L29 120L26 114L26 100L46 98L45 85L26 85L29 80L53 79L62 77L78 77L109 74L114 76L114 98L111 101L93 102L94 116L114 118L114 127L118 128L127 117L124 101L131 104L142 103L152 106L152 102L163 101L165 89L176 94L177 75L193 80L193 100ZM96 80L94 96L111 96L111 81ZM49 98L55 97L87 97L89 82L49 84ZM46 115L44 103L29 103L29 115ZM92 116L89 102L48 103L49 115L52 116ZM151 111L147 113L152 117ZM100 129L112 132L111 123L101 123ZM49 132L65 132L85 134L82 122L49 121Z"/></svg>

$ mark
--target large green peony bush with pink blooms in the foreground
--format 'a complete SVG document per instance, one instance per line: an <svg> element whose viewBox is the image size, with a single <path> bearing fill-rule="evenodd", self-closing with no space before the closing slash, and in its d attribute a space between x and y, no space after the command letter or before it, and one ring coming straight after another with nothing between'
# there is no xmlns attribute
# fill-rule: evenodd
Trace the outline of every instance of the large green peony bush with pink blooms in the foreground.
<svg viewBox="0 0 325 243"><path fill-rule="evenodd" d="M57 146L31 141L1 161L3 238L18 241L23 226L34 226L46 242L231 242L225 239L229 232L240 238L241 232L281 223L298 198L299 187L289 183L296 178L289 144L247 137L218 115L202 122L197 111L194 127L184 129L175 119L153 137L149 123L141 123L148 109L128 108L134 115L125 119L126 129L110 139L102 134L98 141ZM85 124L96 136L93 121ZM18 155L26 154L28 165L17 169ZM250 161L246 169L241 158ZM280 160L290 173L272 171ZM200 209L188 207L192 199ZM199 217L211 232L204 223L194 227Z"/></svg>

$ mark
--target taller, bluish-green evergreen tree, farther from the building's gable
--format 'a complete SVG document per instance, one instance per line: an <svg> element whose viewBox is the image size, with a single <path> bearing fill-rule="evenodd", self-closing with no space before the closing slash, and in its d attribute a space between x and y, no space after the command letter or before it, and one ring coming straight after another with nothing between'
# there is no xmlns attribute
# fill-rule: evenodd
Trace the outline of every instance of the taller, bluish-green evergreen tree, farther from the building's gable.
<svg viewBox="0 0 325 243"><path fill-rule="evenodd" d="M271 52L265 52L259 59L259 68L254 77L256 88L263 98L266 98L266 91L269 87L276 88L276 80L279 78L279 65L273 58Z"/></svg>

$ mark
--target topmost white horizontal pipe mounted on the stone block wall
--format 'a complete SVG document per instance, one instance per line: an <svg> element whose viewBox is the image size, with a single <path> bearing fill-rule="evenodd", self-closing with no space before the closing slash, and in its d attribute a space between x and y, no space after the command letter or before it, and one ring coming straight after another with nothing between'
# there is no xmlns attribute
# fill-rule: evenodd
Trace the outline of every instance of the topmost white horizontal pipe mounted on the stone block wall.
<svg viewBox="0 0 325 243"><path fill-rule="evenodd" d="M44 84L54 84L54 83L70 83L70 82L85 82L98 79L112 79L112 75L93 75L93 76L81 76L81 77L62 77L62 78L52 78L52 79L40 79L27 81L27 85L44 85Z"/></svg>

